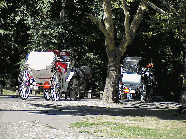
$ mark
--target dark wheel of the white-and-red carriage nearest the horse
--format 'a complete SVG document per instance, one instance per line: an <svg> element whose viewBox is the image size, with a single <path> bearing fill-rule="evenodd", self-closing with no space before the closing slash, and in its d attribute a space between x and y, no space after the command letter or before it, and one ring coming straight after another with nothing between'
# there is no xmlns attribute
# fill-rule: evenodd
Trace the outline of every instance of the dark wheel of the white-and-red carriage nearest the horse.
<svg viewBox="0 0 186 139"><path fill-rule="evenodd" d="M77 78L72 78L68 85L70 100L80 100L80 82Z"/></svg>

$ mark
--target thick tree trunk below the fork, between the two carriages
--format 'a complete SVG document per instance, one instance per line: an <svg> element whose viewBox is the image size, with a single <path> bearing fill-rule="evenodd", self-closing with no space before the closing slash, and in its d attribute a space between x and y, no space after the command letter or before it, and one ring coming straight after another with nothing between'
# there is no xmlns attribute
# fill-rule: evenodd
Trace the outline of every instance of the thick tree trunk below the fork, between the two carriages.
<svg viewBox="0 0 186 139"><path fill-rule="evenodd" d="M106 85L103 92L103 101L108 103L118 103L118 80L121 54L116 50L108 54L108 69Z"/></svg>

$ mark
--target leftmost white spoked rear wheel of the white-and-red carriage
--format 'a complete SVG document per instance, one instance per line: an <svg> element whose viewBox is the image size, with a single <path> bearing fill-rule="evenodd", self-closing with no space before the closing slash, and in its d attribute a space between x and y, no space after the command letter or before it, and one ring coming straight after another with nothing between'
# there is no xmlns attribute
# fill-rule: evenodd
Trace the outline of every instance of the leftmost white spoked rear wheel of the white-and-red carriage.
<svg viewBox="0 0 186 139"><path fill-rule="evenodd" d="M30 88L26 86L25 83L21 85L19 89L19 96L22 100L26 100L30 95Z"/></svg>

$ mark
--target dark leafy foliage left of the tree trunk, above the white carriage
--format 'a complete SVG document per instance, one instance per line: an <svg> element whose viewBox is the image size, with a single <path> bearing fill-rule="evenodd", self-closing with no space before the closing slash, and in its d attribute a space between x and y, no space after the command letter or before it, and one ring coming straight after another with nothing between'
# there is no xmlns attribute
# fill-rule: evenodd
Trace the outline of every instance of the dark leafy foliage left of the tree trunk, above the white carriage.
<svg viewBox="0 0 186 139"><path fill-rule="evenodd" d="M103 41L100 43L103 35L100 35L96 26L84 16L86 12L90 12L89 5L92 5L92 1L76 1L76 6L73 4L72 0L66 3L62 3L61 0L1 1L0 61L3 68L0 73L4 79L9 78L9 73L15 74L14 78L17 78L16 75L22 69L26 55L32 50L71 49L74 52L76 66L82 65L81 62L86 59L89 61L88 65L95 63L101 70L104 69L103 58L97 58L99 62L96 63L95 60L92 62L88 55L86 58L82 55L86 53L94 53L96 57L99 54L104 55L104 49L97 49L104 43ZM62 14L62 11L65 14ZM97 47L88 49L91 43ZM87 65L87 62L84 64ZM11 69L16 73L7 68L8 65L12 65ZM103 79L100 78L97 84L100 82L103 82Z"/></svg>

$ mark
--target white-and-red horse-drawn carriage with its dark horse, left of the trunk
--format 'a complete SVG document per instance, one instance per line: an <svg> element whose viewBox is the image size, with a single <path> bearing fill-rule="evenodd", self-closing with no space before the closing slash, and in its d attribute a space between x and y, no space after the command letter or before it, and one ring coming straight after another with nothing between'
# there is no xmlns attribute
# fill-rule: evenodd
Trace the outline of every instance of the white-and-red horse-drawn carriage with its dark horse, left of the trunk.
<svg viewBox="0 0 186 139"><path fill-rule="evenodd" d="M24 66L19 88L23 100L38 88L42 88L46 100L59 100L62 94L65 99L78 100L85 96L91 80L91 69L75 68L68 50L31 52Z"/></svg>

